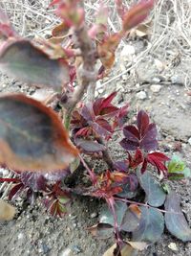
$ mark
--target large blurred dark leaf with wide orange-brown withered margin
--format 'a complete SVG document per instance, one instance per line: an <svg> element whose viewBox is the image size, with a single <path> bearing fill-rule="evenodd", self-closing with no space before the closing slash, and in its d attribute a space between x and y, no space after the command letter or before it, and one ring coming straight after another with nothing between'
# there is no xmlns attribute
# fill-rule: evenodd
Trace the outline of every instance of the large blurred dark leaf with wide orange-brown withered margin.
<svg viewBox="0 0 191 256"><path fill-rule="evenodd" d="M0 97L0 163L17 171L66 168L78 151L52 108L22 94Z"/></svg>

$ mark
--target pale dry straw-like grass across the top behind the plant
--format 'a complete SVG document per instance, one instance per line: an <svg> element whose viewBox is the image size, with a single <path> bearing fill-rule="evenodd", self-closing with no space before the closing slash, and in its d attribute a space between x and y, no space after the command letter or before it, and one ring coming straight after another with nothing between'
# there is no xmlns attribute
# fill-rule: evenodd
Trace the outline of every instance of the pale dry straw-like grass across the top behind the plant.
<svg viewBox="0 0 191 256"><path fill-rule="evenodd" d="M8 12L11 22L21 35L26 37L47 37L59 19L48 9L51 0L1 0L0 6ZM85 0L86 16L88 23L93 22L99 0ZM120 19L114 8L114 0L102 0L110 9L108 23L111 31L116 32L120 28ZM137 0L124 0L129 7ZM158 0L152 12L154 25L151 28L151 37L148 47L144 52L138 54L134 63L130 63L129 69L135 68L142 58L148 54L154 55L172 68L176 61L184 63L184 66L191 66L191 4L190 0ZM121 45L128 43L123 40ZM121 71L120 71L121 72ZM184 70L185 85L191 83L191 71ZM119 73L116 80L123 73ZM109 81L111 81L109 80ZM108 82L109 82L108 81Z"/></svg>

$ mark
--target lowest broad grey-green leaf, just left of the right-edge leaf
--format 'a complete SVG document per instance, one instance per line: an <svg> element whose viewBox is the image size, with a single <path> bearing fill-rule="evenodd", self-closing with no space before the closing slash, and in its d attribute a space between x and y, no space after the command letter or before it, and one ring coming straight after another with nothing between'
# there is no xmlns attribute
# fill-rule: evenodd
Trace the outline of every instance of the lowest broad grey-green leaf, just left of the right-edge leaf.
<svg viewBox="0 0 191 256"><path fill-rule="evenodd" d="M144 206L139 208L141 210L141 217L138 229L133 232L133 241L156 243L163 233L163 215L158 209Z"/></svg>

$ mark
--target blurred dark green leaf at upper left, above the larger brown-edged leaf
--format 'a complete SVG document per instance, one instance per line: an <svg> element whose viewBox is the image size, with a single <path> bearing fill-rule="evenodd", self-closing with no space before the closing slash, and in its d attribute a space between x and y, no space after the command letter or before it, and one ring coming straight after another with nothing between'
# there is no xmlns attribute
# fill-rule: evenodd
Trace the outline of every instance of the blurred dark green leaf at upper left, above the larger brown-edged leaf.
<svg viewBox="0 0 191 256"><path fill-rule="evenodd" d="M51 59L28 40L11 41L0 53L0 69L25 82L61 90L70 81L66 62Z"/></svg>

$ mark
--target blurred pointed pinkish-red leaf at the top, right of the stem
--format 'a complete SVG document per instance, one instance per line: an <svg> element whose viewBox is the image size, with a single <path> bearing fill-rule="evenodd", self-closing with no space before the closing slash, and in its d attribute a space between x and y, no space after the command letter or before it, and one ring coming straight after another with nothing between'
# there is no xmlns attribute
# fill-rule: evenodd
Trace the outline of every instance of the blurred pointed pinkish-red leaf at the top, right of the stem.
<svg viewBox="0 0 191 256"><path fill-rule="evenodd" d="M138 5L134 6L123 15L123 32L131 30L142 22L153 8L155 0L141 0Z"/></svg>

